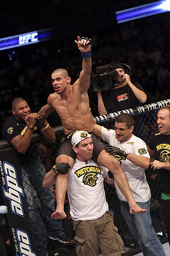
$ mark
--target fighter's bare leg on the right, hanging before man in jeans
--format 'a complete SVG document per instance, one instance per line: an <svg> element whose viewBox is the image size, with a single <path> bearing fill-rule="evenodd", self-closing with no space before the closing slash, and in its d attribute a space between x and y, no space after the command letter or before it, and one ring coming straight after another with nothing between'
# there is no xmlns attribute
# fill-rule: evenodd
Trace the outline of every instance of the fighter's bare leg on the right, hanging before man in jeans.
<svg viewBox="0 0 170 256"><path fill-rule="evenodd" d="M135 202L126 175L124 174L118 160L115 159L114 155L110 155L105 150L103 150L99 154L97 161L98 164L107 167L111 173L113 173L116 184L120 187L121 191L126 197L127 202L129 203L130 213L134 214L146 212L145 209L142 209Z"/></svg>

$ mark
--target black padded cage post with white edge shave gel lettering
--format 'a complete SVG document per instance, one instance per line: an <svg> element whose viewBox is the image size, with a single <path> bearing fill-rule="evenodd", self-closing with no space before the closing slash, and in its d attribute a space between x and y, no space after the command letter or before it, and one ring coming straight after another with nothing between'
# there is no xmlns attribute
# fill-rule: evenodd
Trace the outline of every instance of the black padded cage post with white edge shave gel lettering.
<svg viewBox="0 0 170 256"><path fill-rule="evenodd" d="M37 249L31 229L24 195L20 164L14 148L0 150L1 197L8 213L4 215L12 253L15 256L36 256Z"/></svg>

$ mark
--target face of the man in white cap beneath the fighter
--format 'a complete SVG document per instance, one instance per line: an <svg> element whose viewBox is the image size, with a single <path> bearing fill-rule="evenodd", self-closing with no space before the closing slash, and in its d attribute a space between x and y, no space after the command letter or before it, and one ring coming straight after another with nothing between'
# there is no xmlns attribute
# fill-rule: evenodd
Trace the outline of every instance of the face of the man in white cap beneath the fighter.
<svg viewBox="0 0 170 256"><path fill-rule="evenodd" d="M93 154L93 142L91 138L87 138L81 140L78 144L78 148L73 146L73 150L75 150L77 154L77 159L82 162L87 162L92 158Z"/></svg>

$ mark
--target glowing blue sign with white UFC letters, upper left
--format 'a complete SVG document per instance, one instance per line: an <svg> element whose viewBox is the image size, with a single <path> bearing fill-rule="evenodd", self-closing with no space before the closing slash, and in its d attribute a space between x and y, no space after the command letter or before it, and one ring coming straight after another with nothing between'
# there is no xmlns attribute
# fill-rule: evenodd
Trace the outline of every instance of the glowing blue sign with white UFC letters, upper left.
<svg viewBox="0 0 170 256"><path fill-rule="evenodd" d="M52 39L52 29L42 29L0 39L0 51Z"/></svg>

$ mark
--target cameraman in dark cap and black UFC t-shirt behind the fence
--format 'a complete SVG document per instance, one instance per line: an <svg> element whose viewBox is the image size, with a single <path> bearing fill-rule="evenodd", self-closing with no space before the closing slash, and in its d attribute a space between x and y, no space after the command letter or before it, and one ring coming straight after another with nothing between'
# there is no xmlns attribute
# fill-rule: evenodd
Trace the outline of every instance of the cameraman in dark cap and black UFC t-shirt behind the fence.
<svg viewBox="0 0 170 256"><path fill-rule="evenodd" d="M98 91L98 112L103 114L118 112L124 109L134 108L145 103L146 93L139 83L133 84L130 81L130 67L124 63L113 66L118 74L113 78L115 87L111 90Z"/></svg>

